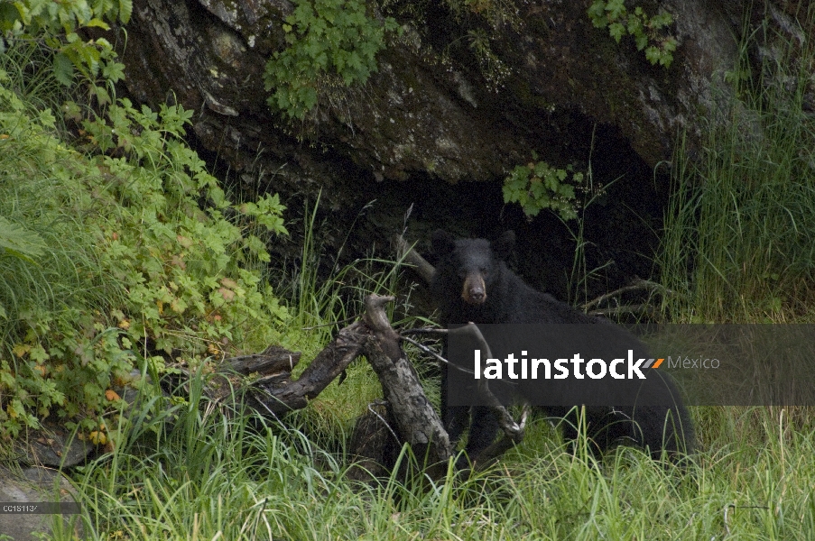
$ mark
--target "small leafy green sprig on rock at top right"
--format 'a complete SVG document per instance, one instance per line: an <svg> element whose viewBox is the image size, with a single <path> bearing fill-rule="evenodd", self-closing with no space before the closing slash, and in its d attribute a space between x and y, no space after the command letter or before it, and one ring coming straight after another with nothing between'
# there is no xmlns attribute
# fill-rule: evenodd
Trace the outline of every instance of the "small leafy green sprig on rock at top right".
<svg viewBox="0 0 815 541"><path fill-rule="evenodd" d="M636 50L645 50L645 58L652 64L671 66L673 51L679 44L676 37L666 32L673 24L671 14L648 16L640 6L632 14L625 7L625 0L595 0L588 8L588 18L595 27L608 28L617 43L625 36L634 38Z"/></svg>

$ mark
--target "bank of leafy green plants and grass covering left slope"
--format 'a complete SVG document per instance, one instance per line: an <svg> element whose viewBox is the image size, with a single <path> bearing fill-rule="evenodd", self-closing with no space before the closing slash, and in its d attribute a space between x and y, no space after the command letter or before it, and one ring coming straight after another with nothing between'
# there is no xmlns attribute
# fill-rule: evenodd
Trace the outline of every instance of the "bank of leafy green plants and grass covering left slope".
<svg viewBox="0 0 815 541"><path fill-rule="evenodd" d="M262 268L283 206L227 200L181 139L191 112L68 103L88 156L16 87L0 63L0 435L48 416L98 435L139 358L161 371L277 339Z"/></svg>

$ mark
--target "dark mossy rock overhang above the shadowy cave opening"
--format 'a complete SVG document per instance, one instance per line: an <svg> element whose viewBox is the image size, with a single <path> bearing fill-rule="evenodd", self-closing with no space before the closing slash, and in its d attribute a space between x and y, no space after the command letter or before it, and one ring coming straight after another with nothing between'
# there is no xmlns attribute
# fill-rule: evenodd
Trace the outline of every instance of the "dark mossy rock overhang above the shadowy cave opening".
<svg viewBox="0 0 815 541"><path fill-rule="evenodd" d="M660 4L644 7L656 14ZM357 187L360 179L337 167L343 161L370 180L495 181L532 151L543 159L568 153L593 123L616 126L652 166L670 160L676 133L695 140L699 119L715 115L728 92L722 75L735 63L745 6L662 3L680 41L670 69L652 66L632 40L618 44L595 28L586 8L506 2L489 19L443 7L428 16L427 5L417 6L401 17L403 32L388 39L364 87L324 84L315 112L289 124L266 105L263 73L285 47L291 4L136 0L125 85L153 106L171 91L201 112L194 131L205 147L248 182L273 179L282 193L347 180ZM486 63L468 46L485 24L482 45L493 55Z"/></svg>

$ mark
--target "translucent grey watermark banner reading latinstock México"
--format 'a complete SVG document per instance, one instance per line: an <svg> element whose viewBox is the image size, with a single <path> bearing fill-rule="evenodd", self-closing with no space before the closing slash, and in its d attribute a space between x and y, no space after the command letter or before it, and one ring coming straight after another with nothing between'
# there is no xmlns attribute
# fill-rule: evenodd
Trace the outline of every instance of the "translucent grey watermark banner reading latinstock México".
<svg viewBox="0 0 815 541"><path fill-rule="evenodd" d="M483 405L477 389L488 383L546 407L659 405L675 391L694 406L815 407L815 325L477 328L477 339L449 335L449 362L461 369L448 371L454 404Z"/></svg>

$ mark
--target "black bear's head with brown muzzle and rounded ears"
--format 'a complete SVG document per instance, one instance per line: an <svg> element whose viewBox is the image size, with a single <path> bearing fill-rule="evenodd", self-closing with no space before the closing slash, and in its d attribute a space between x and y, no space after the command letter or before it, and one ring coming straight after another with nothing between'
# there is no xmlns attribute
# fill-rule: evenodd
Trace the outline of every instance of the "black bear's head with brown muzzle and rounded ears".
<svg viewBox="0 0 815 541"><path fill-rule="evenodd" d="M438 259L434 284L437 291L454 293L470 306L486 302L492 287L505 269L504 261L514 247L515 234L506 231L493 242L486 239L457 239L441 229L431 243Z"/></svg>

